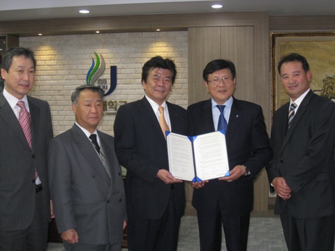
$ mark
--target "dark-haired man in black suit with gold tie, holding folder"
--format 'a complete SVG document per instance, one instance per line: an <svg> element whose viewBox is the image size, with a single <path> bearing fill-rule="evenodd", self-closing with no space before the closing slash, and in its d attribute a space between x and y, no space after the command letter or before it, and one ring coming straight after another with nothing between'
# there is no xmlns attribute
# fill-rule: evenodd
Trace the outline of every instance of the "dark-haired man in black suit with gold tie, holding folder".
<svg viewBox="0 0 335 251"><path fill-rule="evenodd" d="M145 97L122 105L115 119L117 158L127 169L127 233L131 251L177 250L185 192L184 183L168 171L165 141L165 130L186 133L186 110L165 101L176 74L170 59L155 56L147 61L142 68ZM168 128L160 126L163 119Z"/></svg>

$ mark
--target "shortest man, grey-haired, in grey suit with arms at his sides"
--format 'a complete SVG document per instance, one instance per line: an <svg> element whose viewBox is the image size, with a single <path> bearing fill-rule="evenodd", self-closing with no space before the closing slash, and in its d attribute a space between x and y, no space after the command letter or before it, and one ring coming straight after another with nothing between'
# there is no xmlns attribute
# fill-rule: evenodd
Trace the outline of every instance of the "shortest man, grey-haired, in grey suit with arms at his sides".
<svg viewBox="0 0 335 251"><path fill-rule="evenodd" d="M103 90L78 86L71 96L75 124L48 151L50 193L66 251L119 251L126 199L114 138L96 130Z"/></svg>

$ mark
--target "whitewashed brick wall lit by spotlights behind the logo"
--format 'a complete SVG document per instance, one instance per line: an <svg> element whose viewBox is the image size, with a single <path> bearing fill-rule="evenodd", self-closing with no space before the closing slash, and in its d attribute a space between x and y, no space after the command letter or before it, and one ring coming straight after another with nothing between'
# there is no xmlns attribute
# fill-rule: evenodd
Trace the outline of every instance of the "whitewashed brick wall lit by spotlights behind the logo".
<svg viewBox="0 0 335 251"><path fill-rule="evenodd" d="M101 76L110 84L110 66L117 66L117 89L105 100L141 99L143 64L152 56L174 60L177 79L168 100L186 108L188 105L187 31L110 33L20 38L20 46L34 50L37 70L34 88L29 95L50 103L54 135L73 126L70 94L76 86L86 84L94 52L102 54L106 69ZM94 57L95 59L95 57ZM114 115L106 115L99 130L114 135Z"/></svg>

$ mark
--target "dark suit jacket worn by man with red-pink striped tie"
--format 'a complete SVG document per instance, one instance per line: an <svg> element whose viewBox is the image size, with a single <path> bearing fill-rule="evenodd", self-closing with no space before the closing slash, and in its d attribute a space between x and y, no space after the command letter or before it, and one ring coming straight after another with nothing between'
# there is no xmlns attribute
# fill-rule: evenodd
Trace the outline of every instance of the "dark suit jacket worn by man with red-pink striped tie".
<svg viewBox="0 0 335 251"><path fill-rule="evenodd" d="M35 169L43 185L45 212L50 221L46 149L53 137L50 107L28 96L31 114L30 149L13 109L0 93L0 231L26 229L35 213Z"/></svg>

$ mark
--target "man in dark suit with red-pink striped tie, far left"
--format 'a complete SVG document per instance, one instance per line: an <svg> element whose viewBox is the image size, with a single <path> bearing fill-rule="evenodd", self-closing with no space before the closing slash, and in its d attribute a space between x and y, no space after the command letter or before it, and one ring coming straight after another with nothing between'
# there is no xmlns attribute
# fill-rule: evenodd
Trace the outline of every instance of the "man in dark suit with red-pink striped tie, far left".
<svg viewBox="0 0 335 251"><path fill-rule="evenodd" d="M46 149L53 133L48 103L27 96L34 85L35 71L36 59L29 49L15 47L3 56L0 250L47 248L51 218Z"/></svg>

